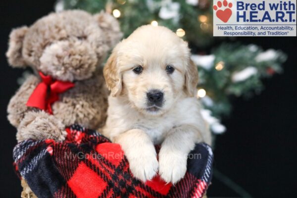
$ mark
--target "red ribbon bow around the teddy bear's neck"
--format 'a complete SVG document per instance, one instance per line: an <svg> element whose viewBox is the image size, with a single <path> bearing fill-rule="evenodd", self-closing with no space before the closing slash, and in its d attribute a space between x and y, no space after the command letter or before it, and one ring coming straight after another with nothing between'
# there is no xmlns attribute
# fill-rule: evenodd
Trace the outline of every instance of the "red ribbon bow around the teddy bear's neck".
<svg viewBox="0 0 297 198"><path fill-rule="evenodd" d="M74 83L53 80L51 76L46 76L42 72L39 72L39 75L42 82L35 88L26 105L52 114L51 104L59 99L59 94L74 87Z"/></svg>

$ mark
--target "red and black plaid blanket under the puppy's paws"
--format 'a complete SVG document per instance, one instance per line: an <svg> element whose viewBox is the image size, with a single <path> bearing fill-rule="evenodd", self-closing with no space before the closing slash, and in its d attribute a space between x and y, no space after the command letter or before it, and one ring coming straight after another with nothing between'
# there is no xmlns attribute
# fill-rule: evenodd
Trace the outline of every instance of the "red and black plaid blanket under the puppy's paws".
<svg viewBox="0 0 297 198"><path fill-rule="evenodd" d="M158 176L145 184L133 177L118 144L79 125L63 143L27 140L13 150L17 173L38 198L200 198L212 176L213 155L198 144L187 173L176 185Z"/></svg>

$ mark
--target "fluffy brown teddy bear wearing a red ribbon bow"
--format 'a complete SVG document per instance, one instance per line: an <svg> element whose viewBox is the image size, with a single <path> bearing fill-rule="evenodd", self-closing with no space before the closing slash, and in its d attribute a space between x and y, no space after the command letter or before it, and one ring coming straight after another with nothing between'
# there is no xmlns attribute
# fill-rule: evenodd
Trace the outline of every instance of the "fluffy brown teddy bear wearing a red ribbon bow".
<svg viewBox="0 0 297 198"><path fill-rule="evenodd" d="M63 141L67 126L98 129L105 123L109 93L100 66L121 37L113 16L82 10L50 13L30 27L12 30L9 64L34 72L7 108L18 142Z"/></svg>

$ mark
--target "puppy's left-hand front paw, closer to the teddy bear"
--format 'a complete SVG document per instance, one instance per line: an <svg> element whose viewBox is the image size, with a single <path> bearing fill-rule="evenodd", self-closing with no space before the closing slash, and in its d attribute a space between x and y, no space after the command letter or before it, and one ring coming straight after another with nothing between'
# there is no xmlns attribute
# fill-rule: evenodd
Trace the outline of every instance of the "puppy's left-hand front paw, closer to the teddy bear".
<svg viewBox="0 0 297 198"><path fill-rule="evenodd" d="M137 179L146 182L155 176L159 165L155 151L137 152L137 154L131 153L131 157L127 156L127 158L129 160L130 170Z"/></svg>

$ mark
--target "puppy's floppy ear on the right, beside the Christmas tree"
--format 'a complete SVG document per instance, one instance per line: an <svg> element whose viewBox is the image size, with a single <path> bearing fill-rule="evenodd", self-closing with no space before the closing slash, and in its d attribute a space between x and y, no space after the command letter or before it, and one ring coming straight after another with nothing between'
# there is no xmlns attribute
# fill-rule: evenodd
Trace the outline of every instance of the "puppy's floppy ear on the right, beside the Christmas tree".
<svg viewBox="0 0 297 198"><path fill-rule="evenodd" d="M196 64L189 59L187 70L186 70L186 87L187 93L190 97L195 96L196 94L196 86L198 83L198 68Z"/></svg>

